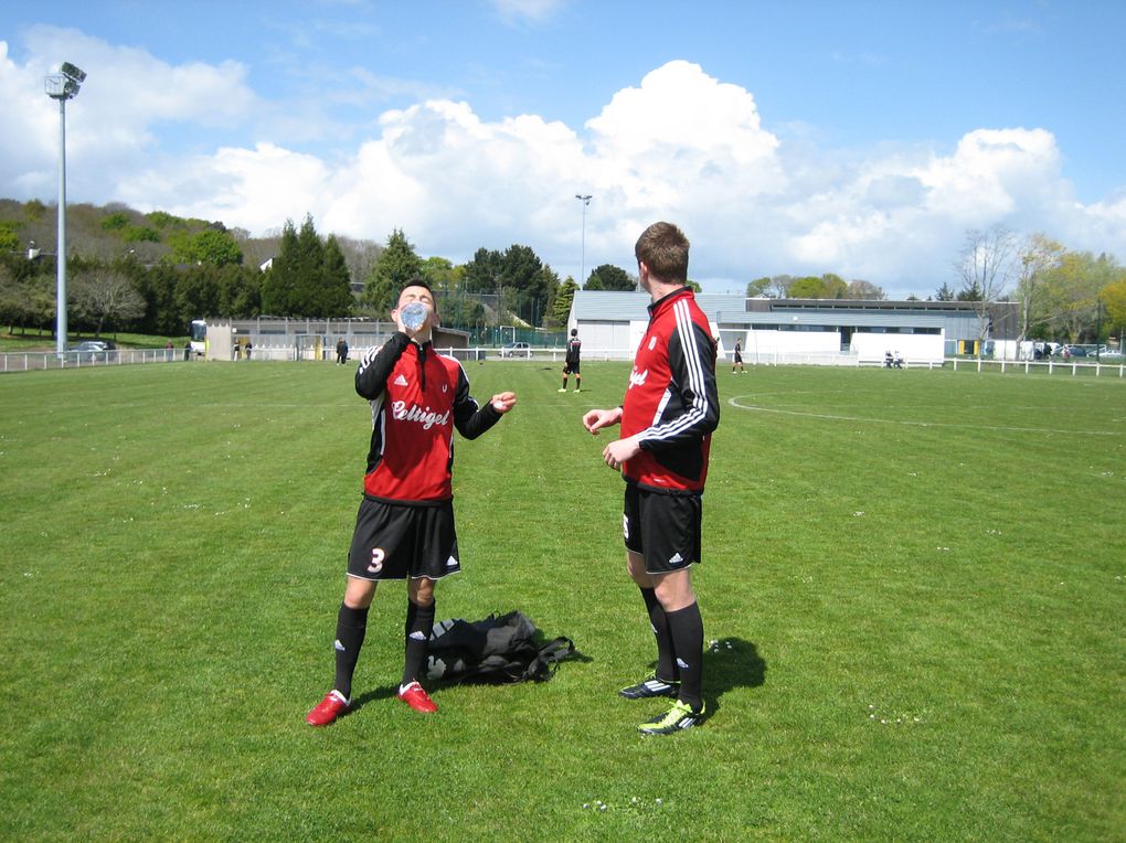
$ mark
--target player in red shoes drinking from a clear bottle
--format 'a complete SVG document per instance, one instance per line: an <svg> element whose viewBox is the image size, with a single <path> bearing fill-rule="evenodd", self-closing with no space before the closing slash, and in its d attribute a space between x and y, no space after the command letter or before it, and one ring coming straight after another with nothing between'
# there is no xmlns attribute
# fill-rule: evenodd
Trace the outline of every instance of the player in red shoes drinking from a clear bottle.
<svg viewBox="0 0 1126 843"><path fill-rule="evenodd" d="M403 310L413 303L426 308L426 319L411 329ZM351 705L368 607L383 580L408 581L399 697L415 711L437 710L419 675L434 627L435 582L461 571L450 486L454 429L476 439L516 405L516 394L502 392L479 406L462 365L434 350L438 314L426 283L403 287L391 317L399 330L382 348L368 349L356 370L356 392L372 404L372 447L337 617L336 684L305 717L312 726L329 725Z"/></svg>

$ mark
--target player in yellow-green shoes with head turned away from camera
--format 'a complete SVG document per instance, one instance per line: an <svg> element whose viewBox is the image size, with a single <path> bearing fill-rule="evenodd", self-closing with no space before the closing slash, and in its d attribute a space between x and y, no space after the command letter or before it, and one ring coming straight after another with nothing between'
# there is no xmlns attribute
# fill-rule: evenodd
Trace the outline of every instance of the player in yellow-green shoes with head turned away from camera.
<svg viewBox="0 0 1126 843"><path fill-rule="evenodd" d="M704 717L704 621L691 566L700 562L701 496L720 402L712 332L687 286L688 239L671 223L654 223L634 252L641 286L652 298L649 329L622 406L591 410L582 423L595 434L622 425L622 438L606 446L602 460L626 482L626 568L645 601L658 662L653 675L619 693L676 698L669 711L637 727L667 735Z"/></svg>

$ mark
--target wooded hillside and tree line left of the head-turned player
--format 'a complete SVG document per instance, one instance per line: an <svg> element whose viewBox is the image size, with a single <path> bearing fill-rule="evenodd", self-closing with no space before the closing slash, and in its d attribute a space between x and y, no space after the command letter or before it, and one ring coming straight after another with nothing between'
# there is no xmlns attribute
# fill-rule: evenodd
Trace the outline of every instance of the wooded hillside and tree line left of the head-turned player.
<svg viewBox="0 0 1126 843"><path fill-rule="evenodd" d="M56 255L43 248L54 239L48 212L37 201L0 200L0 323L14 330L54 328ZM578 289L526 245L482 248L455 266L420 258L397 228L383 245L322 237L307 215L300 227L286 221L280 232L251 239L221 223L164 212L81 205L68 207L68 232L69 323L95 335L182 335L200 316L386 319L394 295L412 278L426 279L438 294L446 325L504 320L558 328ZM628 279L623 270L600 267L590 288L622 284L611 270Z"/></svg>

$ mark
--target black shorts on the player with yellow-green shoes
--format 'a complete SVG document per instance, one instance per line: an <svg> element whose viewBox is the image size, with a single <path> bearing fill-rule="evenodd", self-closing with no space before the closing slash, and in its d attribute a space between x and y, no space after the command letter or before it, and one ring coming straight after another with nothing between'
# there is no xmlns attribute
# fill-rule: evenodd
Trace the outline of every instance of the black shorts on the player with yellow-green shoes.
<svg viewBox="0 0 1126 843"><path fill-rule="evenodd" d="M641 554L646 574L668 574L700 562L699 495L646 492L626 484L622 530L626 549Z"/></svg>

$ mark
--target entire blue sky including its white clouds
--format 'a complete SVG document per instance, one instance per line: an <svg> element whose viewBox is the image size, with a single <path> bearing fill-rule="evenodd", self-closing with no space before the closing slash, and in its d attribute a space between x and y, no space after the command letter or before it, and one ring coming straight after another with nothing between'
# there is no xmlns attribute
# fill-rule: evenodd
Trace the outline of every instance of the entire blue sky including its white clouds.
<svg viewBox="0 0 1126 843"><path fill-rule="evenodd" d="M0 24L0 196L425 257L633 270L678 222L709 292L833 271L957 286L1001 224L1126 260L1126 3L52 2ZM577 192L592 194L581 254Z"/></svg>

